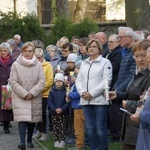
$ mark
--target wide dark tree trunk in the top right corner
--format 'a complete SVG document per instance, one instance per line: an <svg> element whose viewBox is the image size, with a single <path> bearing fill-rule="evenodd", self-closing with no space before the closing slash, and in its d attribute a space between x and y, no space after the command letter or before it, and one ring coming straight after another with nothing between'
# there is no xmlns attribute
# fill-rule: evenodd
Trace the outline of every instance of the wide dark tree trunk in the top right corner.
<svg viewBox="0 0 150 150"><path fill-rule="evenodd" d="M135 30L150 29L149 0L125 0L127 26Z"/></svg>

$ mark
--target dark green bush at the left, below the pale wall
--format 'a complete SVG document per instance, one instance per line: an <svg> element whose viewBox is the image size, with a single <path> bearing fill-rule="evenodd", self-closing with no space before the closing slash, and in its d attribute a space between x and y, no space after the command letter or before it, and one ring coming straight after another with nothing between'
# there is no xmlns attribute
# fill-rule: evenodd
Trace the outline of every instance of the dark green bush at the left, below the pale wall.
<svg viewBox="0 0 150 150"><path fill-rule="evenodd" d="M21 17L13 12L0 12L0 17L0 42L12 38L14 34L20 34L24 42L45 39L45 32L34 14Z"/></svg>

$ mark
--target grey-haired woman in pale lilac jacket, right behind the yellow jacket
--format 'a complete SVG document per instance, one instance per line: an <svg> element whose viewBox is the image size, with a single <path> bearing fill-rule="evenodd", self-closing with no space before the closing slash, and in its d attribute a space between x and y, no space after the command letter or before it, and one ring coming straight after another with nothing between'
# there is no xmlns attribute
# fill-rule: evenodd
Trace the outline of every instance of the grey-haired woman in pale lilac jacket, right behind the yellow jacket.
<svg viewBox="0 0 150 150"><path fill-rule="evenodd" d="M57 68L57 64L59 61L59 54L57 52L57 47L55 45L48 45L46 47L46 52L50 56L50 63L53 66L53 70Z"/></svg>

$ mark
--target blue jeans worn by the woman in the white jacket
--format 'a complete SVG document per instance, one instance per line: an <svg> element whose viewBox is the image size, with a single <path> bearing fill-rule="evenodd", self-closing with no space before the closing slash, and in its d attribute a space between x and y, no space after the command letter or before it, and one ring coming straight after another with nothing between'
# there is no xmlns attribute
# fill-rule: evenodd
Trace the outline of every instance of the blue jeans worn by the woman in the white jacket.
<svg viewBox="0 0 150 150"><path fill-rule="evenodd" d="M90 150L108 150L108 105L83 105Z"/></svg>

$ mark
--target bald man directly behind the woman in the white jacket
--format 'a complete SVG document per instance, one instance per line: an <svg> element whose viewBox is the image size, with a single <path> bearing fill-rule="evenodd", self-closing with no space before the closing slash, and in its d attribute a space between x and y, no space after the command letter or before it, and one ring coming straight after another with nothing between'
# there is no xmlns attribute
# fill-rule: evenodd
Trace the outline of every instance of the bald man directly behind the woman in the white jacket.
<svg viewBox="0 0 150 150"><path fill-rule="evenodd" d="M98 32L95 34L95 39L98 39L103 45L102 56L106 57L109 54L107 36L104 32Z"/></svg>

